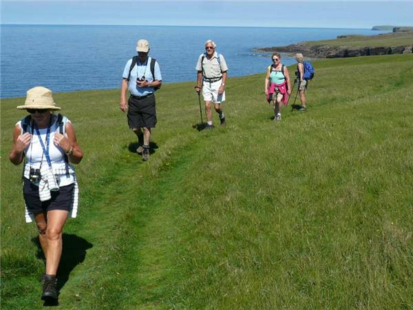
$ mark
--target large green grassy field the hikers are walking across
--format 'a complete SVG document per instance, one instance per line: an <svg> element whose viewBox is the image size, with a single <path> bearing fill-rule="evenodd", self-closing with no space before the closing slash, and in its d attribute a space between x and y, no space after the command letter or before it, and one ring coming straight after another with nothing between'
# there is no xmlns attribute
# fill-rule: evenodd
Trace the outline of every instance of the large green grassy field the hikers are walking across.
<svg viewBox="0 0 413 310"><path fill-rule="evenodd" d="M264 74L228 80L208 132L194 83L162 86L147 163L118 90L55 94L85 151L59 309L413 309L413 55L314 65L281 122ZM22 103L1 102L1 309L43 307L8 161Z"/></svg>

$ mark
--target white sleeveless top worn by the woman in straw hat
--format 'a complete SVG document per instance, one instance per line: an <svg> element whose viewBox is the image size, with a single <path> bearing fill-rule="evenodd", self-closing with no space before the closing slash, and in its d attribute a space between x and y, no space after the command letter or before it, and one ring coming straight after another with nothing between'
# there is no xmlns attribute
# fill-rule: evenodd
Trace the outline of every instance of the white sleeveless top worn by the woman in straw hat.
<svg viewBox="0 0 413 310"><path fill-rule="evenodd" d="M65 167L65 152L61 147L56 146L54 141L54 133L59 132L59 126L57 125L57 117L54 117L54 122L50 127L50 138L49 138L49 156L50 161L52 162L52 168L60 168ZM70 122L69 120L67 120ZM21 121L17 123L21 127ZM32 133L32 129L28 126L28 132ZM47 128L39 129L40 138L43 141L43 145L47 149L46 145L46 134ZM39 136L36 133L36 130L33 130L32 136L32 143L24 150L26 163L25 163L25 172L24 177L29 178L30 175L30 167L34 169L40 169L40 167L47 167L49 164L47 163L47 159L45 154L43 154L43 148L41 147L41 143L39 141ZM63 170L64 171L64 170ZM72 174L58 174L60 178L59 186L70 185L74 183L74 176Z"/></svg>

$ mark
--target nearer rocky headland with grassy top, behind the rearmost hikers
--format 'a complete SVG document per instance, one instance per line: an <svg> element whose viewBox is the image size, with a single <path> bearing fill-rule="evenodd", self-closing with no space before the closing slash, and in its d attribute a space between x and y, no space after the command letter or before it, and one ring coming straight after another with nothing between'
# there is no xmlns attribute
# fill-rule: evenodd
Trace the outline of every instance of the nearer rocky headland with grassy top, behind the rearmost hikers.
<svg viewBox="0 0 413 310"><path fill-rule="evenodd" d="M335 40L300 42L286 46L258 48L259 52L297 52L311 58L339 58L386 54L412 54L413 32L379 34L374 36L338 36Z"/></svg>

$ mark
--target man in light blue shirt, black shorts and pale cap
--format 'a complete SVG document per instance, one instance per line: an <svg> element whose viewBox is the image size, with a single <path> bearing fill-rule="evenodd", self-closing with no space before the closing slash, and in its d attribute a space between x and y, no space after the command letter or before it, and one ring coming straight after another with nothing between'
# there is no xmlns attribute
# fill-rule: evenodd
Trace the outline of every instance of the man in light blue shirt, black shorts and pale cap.
<svg viewBox="0 0 413 310"><path fill-rule="evenodd" d="M129 59L123 70L120 88L120 110L127 111L129 128L138 136L138 149L142 160L149 159L151 128L156 125L155 92L162 85L162 76L156 59L148 56L149 42L140 39L136 44L138 56ZM131 96L126 99L129 89ZM143 130L143 133L142 133Z"/></svg>

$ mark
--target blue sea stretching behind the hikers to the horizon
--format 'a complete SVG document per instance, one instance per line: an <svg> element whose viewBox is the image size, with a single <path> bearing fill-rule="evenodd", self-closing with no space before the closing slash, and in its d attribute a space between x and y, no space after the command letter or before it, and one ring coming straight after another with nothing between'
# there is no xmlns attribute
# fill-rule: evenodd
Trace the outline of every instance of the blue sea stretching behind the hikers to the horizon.
<svg viewBox="0 0 413 310"><path fill-rule="evenodd" d="M53 92L119 88L138 39L149 41L149 54L160 65L163 83L195 83L195 65L208 39L224 55L229 76L244 76L265 72L271 64L271 54L256 48L379 33L383 32L354 28L1 25L0 98L22 97L39 85ZM295 63L288 56L282 61Z"/></svg>

